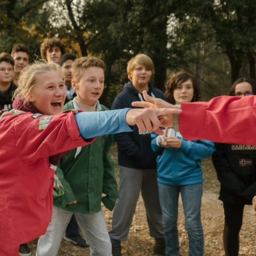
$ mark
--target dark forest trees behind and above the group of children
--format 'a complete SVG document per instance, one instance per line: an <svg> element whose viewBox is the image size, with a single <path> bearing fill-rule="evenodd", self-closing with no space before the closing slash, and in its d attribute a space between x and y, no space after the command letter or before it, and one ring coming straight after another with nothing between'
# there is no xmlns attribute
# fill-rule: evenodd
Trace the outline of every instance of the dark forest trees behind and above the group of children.
<svg viewBox="0 0 256 256"><path fill-rule="evenodd" d="M193 74L201 100L227 95L239 77L255 78L254 0L1 0L0 52L14 44L40 58L44 38L57 36L67 52L106 63L100 102L110 107L127 83L133 56L152 58L152 83L178 70Z"/></svg>

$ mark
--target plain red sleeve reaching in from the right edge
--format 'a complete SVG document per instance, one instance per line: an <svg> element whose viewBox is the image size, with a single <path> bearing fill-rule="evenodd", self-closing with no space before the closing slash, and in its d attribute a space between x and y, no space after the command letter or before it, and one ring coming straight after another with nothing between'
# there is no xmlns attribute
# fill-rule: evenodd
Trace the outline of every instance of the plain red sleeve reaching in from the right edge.
<svg viewBox="0 0 256 256"><path fill-rule="evenodd" d="M180 133L187 140L256 145L256 96L221 96L181 109Z"/></svg>

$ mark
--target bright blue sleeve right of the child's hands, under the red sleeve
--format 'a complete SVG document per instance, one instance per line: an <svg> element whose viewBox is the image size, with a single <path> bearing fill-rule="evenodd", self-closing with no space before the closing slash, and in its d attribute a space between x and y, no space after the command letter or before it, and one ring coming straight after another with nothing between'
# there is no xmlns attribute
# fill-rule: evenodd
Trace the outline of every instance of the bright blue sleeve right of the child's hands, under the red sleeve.
<svg viewBox="0 0 256 256"><path fill-rule="evenodd" d="M209 140L182 140L180 147L191 159L201 160L212 155L215 151L214 142Z"/></svg>

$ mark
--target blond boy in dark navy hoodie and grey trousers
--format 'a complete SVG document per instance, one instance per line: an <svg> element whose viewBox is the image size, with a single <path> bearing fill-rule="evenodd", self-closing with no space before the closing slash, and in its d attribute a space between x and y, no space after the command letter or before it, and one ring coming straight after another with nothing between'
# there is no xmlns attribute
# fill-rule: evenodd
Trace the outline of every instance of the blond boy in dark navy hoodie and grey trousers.
<svg viewBox="0 0 256 256"><path fill-rule="evenodd" d="M131 103L143 101L143 90L152 97L165 99L164 93L149 83L154 74L154 64L145 54L138 54L127 65L130 82L125 84L112 105L112 109L132 108ZM156 239L154 252L164 255L164 235L162 213L159 202L156 170L156 152L151 149L150 132L141 132L138 127L133 132L115 135L118 145L120 188L116 203L112 230L109 232L113 256L121 255L121 241L128 236L140 191L147 212L150 236Z"/></svg>

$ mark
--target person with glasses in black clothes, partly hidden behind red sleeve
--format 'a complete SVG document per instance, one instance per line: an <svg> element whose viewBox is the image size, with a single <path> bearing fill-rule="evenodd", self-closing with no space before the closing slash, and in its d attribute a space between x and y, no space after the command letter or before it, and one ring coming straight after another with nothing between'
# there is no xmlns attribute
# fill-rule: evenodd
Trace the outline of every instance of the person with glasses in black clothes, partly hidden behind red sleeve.
<svg viewBox="0 0 256 256"><path fill-rule="evenodd" d="M230 95L237 97L255 94L256 81L250 78L238 79L230 90ZM256 146L215 143L215 147L212 162L221 184L219 199L223 201L225 214L225 256L237 256L244 205L252 205L256 191Z"/></svg>

